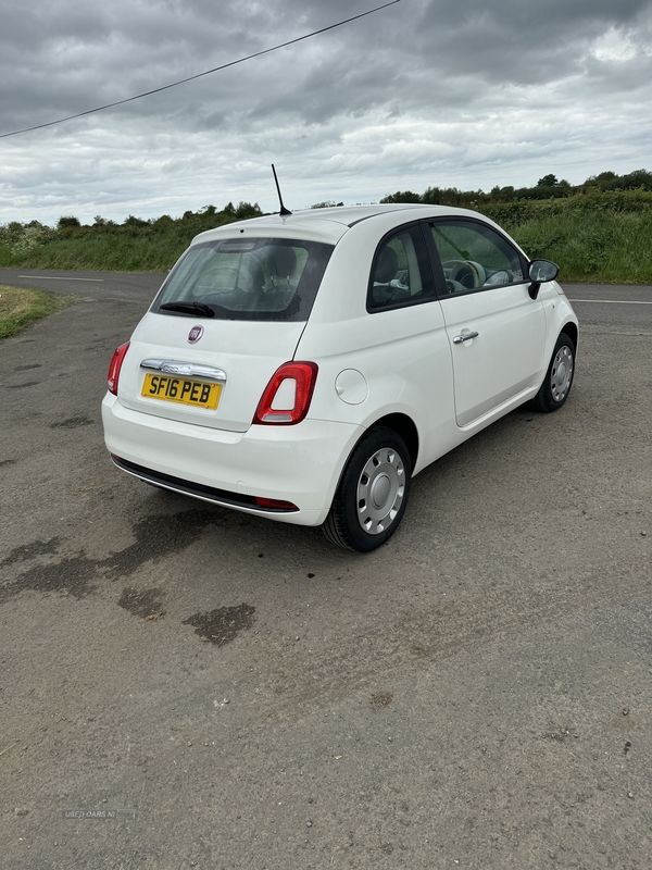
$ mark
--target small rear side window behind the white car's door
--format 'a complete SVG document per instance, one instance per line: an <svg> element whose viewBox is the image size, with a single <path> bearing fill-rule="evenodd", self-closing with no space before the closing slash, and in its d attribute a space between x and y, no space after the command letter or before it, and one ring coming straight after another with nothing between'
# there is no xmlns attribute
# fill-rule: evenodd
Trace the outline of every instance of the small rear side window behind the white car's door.
<svg viewBox="0 0 652 870"><path fill-rule="evenodd" d="M401 227L383 239L367 293L367 311L425 302L432 298L432 282L419 226Z"/></svg>

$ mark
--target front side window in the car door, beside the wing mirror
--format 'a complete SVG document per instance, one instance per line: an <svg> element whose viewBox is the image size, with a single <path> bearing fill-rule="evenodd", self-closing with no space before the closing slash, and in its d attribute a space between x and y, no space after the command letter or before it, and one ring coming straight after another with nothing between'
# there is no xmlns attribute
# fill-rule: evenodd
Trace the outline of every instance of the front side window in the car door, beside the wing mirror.
<svg viewBox="0 0 652 870"><path fill-rule="evenodd" d="M430 231L447 293L490 289L525 279L517 251L490 226L475 221L437 221Z"/></svg>

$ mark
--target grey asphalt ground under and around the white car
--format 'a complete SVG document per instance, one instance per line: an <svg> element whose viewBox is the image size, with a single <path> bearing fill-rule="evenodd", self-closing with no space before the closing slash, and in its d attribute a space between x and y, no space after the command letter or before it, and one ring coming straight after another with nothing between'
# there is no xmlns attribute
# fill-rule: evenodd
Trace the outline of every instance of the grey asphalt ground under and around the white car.
<svg viewBox="0 0 652 870"><path fill-rule="evenodd" d="M364 557L112 467L158 282L0 343L0 865L647 870L650 288L570 288L619 296L577 303L564 409L424 471Z"/></svg>

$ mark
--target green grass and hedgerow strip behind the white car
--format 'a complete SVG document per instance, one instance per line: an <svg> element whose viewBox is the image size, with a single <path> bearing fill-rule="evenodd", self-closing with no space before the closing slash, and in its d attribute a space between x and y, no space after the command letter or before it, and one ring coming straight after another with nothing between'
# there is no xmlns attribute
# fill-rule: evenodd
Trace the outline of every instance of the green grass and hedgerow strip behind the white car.
<svg viewBox="0 0 652 870"><path fill-rule="evenodd" d="M442 191L435 201L476 209L496 220L529 257L561 268L562 281L652 284L652 191L592 189L550 199L467 201ZM431 191L429 200L434 197ZM451 195L449 195L451 194ZM413 197L413 199L406 199ZM389 201L425 201L426 195L397 194ZM448 200L448 201L446 201ZM198 233L261 214L258 206L208 207L173 220L166 215L124 224L80 226L61 219L53 229L33 222L0 227L0 266L165 272ZM67 223L66 223L67 222Z"/></svg>

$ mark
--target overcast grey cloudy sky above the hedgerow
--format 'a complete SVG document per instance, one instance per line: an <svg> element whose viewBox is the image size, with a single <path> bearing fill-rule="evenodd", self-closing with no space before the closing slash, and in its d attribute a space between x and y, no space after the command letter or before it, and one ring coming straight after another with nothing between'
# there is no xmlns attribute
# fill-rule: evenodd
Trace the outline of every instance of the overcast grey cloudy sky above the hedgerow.
<svg viewBox="0 0 652 870"><path fill-rule="evenodd" d="M387 0L386 0L387 1ZM0 134L381 0L0 0ZM0 223L374 202L652 171L652 0L400 0L223 72L0 139Z"/></svg>

